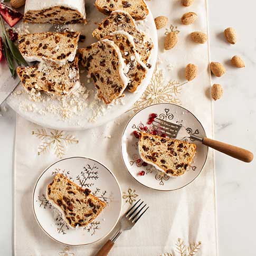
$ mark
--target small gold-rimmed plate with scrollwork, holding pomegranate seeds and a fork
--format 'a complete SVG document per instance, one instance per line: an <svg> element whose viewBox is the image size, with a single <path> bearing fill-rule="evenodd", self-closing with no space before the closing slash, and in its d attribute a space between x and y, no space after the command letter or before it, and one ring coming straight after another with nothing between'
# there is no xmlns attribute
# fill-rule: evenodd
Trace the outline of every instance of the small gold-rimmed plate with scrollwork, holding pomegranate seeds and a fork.
<svg viewBox="0 0 256 256"><path fill-rule="evenodd" d="M152 125L148 125L148 118L151 113L156 113L158 118L182 124L188 134L206 136L201 122L187 109L170 103L160 103L151 105L138 111L126 125L122 134L121 152L122 159L128 172L139 183L146 187L160 191L173 191L182 188L192 181L201 173L208 154L208 147L198 141L192 141L189 138L183 140L196 144L196 155L187 172L177 178L169 177L163 172L157 170L154 166L146 164L140 159L138 152L138 139L134 136L134 131L150 132ZM143 172L144 171L144 172ZM144 175L140 175L142 172Z"/></svg>

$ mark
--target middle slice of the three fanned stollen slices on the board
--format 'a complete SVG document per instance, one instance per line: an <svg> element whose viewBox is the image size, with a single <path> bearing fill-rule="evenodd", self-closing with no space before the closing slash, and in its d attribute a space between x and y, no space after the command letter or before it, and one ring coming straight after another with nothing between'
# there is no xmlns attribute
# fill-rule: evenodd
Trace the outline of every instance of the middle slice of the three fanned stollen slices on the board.
<svg viewBox="0 0 256 256"><path fill-rule="evenodd" d="M125 31L116 31L104 39L113 41L119 47L127 67L125 73L130 79L127 89L130 92L135 92L146 76L147 67L136 52L134 38Z"/></svg>

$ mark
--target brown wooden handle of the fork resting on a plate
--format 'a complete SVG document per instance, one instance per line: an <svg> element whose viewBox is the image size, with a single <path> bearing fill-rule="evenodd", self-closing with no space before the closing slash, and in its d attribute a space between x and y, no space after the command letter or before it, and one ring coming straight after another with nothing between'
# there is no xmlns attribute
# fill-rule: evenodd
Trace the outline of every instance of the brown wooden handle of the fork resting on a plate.
<svg viewBox="0 0 256 256"><path fill-rule="evenodd" d="M246 163L252 162L253 154L249 150L235 147L230 144L226 144L221 141L208 139L208 138L203 139L203 144L208 147L214 148L226 155L239 159L243 162L246 162Z"/></svg>

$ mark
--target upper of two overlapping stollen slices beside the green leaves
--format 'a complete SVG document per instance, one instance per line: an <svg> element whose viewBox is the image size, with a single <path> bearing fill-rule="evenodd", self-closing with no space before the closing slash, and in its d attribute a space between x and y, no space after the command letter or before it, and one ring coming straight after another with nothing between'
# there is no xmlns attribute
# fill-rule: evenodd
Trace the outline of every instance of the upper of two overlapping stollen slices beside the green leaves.
<svg viewBox="0 0 256 256"><path fill-rule="evenodd" d="M45 32L18 36L18 49L26 61L73 61L80 32Z"/></svg>

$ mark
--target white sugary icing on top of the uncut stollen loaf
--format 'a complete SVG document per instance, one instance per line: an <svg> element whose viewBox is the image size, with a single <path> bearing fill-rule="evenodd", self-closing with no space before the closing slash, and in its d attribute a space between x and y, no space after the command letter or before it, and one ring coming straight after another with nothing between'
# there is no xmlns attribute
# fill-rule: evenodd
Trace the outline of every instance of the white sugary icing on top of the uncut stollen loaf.
<svg viewBox="0 0 256 256"><path fill-rule="evenodd" d="M54 6L69 7L81 13L86 19L86 5L84 0L26 0L25 11L39 11Z"/></svg>

